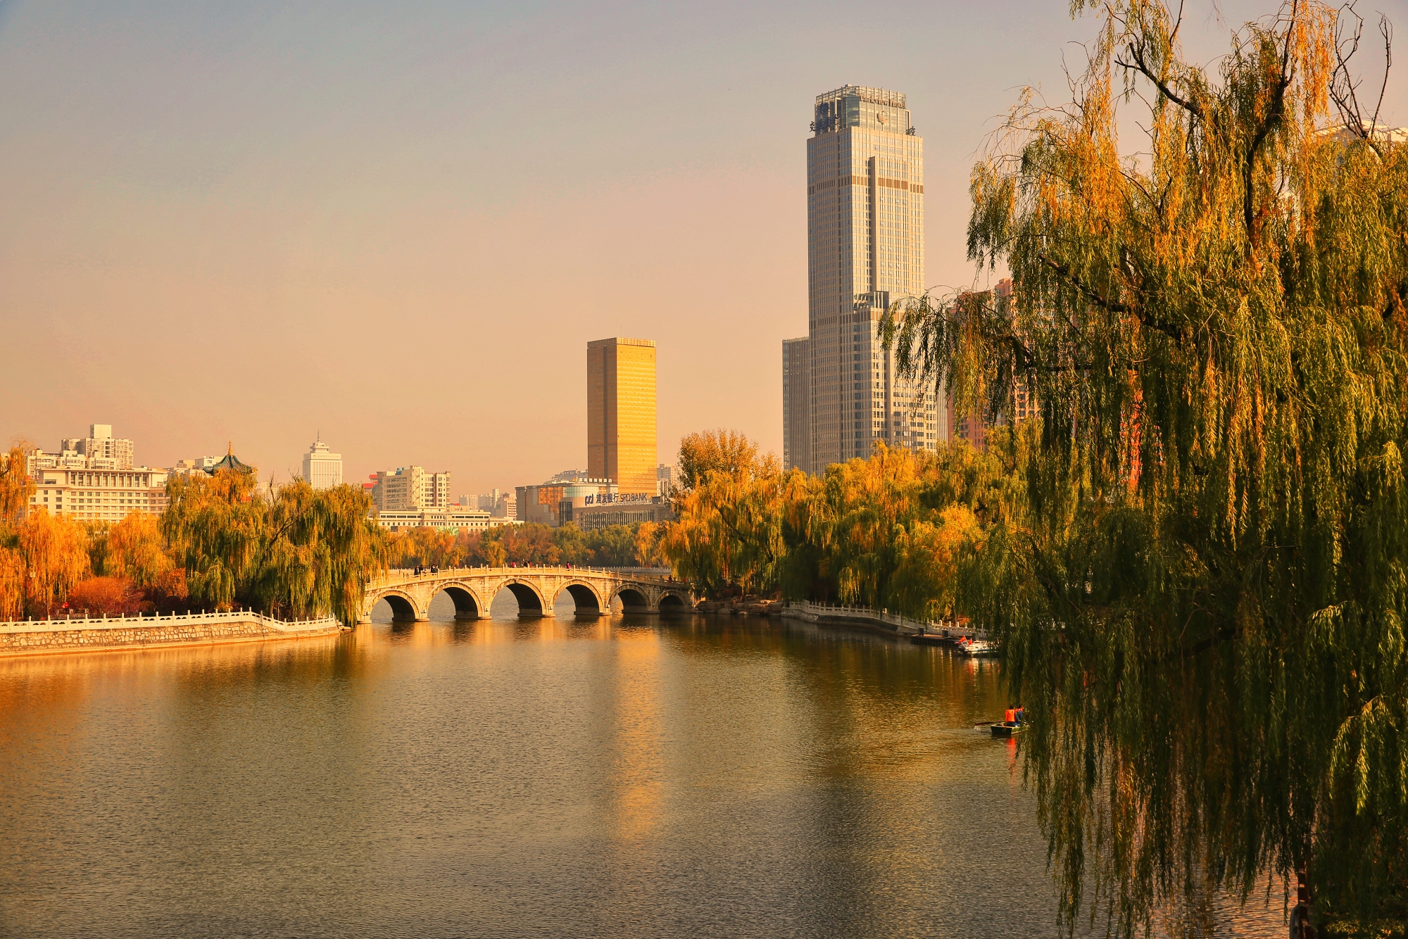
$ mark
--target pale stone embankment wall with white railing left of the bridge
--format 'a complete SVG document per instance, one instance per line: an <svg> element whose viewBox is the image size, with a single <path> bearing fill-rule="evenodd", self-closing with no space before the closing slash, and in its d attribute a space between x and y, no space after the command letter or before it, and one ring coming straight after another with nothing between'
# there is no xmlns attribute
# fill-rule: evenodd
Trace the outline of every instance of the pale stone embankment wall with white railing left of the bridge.
<svg viewBox="0 0 1408 939"><path fill-rule="evenodd" d="M282 622L252 612L0 622L0 656L158 649L331 636L334 618Z"/></svg>

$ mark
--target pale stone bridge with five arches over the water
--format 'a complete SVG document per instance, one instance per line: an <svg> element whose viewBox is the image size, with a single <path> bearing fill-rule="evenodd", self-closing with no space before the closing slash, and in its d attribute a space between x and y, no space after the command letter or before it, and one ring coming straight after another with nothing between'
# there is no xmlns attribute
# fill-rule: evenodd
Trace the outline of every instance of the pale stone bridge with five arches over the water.
<svg viewBox="0 0 1408 939"><path fill-rule="evenodd" d="M690 610L694 595L686 584L667 577L624 574L594 567L448 567L436 573L390 570L366 586L362 622L370 622L372 608L382 600L401 622L429 618L431 600L439 593L455 601L456 619L489 617L494 595L508 588L518 598L518 611L528 617L551 617L563 590L577 604L579 614L607 614L621 601L625 612L667 612Z"/></svg>

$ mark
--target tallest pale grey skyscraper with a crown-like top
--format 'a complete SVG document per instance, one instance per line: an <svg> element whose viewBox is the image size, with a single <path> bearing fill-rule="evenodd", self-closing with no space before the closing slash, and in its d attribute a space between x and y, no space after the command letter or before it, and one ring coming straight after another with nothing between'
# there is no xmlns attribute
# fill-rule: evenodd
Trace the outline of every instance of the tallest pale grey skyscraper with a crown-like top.
<svg viewBox="0 0 1408 939"><path fill-rule="evenodd" d="M876 335L890 303L924 293L924 139L904 94L817 96L807 139L811 472L874 441L932 450L935 389L901 380ZM793 462L798 462L793 458Z"/></svg>

